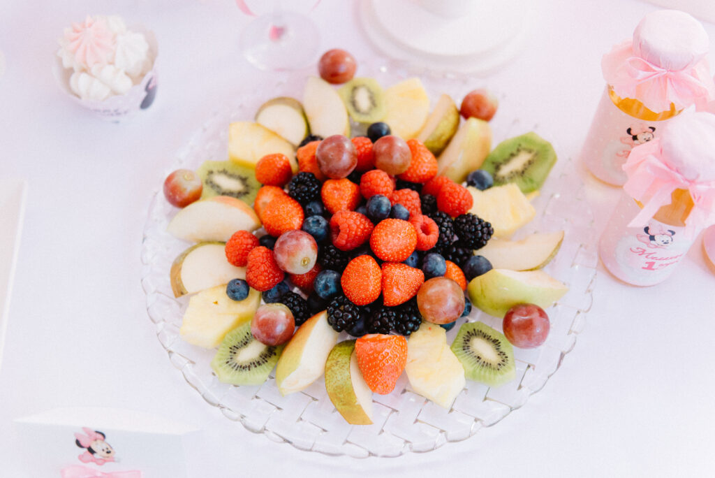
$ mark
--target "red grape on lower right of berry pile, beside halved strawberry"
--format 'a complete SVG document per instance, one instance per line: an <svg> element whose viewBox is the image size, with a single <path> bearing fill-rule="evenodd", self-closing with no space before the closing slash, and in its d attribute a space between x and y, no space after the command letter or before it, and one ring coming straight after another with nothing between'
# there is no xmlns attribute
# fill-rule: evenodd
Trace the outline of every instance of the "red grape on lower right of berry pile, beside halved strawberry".
<svg viewBox="0 0 715 478"><path fill-rule="evenodd" d="M464 292L458 283L447 277L425 281L417 293L417 306L425 321L450 323L464 312Z"/></svg>

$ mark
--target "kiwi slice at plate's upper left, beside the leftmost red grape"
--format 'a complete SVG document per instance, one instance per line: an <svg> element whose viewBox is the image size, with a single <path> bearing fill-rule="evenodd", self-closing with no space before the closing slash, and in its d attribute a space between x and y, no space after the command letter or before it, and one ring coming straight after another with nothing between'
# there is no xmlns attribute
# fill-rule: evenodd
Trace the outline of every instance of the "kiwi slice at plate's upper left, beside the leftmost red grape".
<svg viewBox="0 0 715 478"><path fill-rule="evenodd" d="M202 199L231 196L252 205L261 187L254 170L232 161L204 161L196 173L204 182Z"/></svg>

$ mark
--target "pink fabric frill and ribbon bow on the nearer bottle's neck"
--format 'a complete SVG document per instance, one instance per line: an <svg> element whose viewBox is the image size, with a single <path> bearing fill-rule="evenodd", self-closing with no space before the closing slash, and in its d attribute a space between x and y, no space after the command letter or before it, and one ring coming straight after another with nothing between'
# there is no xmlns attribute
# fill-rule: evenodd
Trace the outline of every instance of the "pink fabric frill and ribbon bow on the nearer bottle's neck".
<svg viewBox="0 0 715 478"><path fill-rule="evenodd" d="M689 180L670 167L663 159L659 138L634 147L623 170L628 175L623 190L643 203L629 228L646 225L662 206L671 203L676 189L689 190L694 203L685 220L686 235L693 237L696 229L715 223L715 180Z"/></svg>

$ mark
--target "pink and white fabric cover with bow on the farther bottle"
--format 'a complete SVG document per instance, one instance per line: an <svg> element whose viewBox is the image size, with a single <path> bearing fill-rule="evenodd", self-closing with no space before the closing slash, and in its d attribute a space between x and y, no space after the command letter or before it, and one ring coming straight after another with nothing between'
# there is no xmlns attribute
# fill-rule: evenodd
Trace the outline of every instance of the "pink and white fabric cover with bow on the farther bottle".
<svg viewBox="0 0 715 478"><path fill-rule="evenodd" d="M603 56L603 77L621 98L636 98L652 111L706 109L715 99L706 54L708 35L699 21L677 10L644 16L633 39Z"/></svg>

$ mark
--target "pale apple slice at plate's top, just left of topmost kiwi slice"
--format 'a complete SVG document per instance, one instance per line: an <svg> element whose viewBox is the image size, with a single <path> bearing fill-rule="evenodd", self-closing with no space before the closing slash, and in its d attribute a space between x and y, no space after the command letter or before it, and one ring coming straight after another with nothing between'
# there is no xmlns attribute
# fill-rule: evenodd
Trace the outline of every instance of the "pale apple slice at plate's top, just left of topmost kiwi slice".
<svg viewBox="0 0 715 478"><path fill-rule="evenodd" d="M303 109L313 135L327 138L350 135L347 109L340 94L330 83L318 77L308 77L303 90Z"/></svg>

